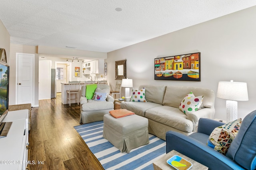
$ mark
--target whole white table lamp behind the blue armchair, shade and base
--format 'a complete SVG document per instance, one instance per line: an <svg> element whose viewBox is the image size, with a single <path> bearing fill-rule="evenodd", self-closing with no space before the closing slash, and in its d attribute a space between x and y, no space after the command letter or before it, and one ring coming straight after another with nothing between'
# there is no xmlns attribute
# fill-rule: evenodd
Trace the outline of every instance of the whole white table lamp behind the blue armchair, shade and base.
<svg viewBox="0 0 256 170"><path fill-rule="evenodd" d="M247 84L244 82L219 82L217 98L226 99L227 122L237 119L237 101L247 101Z"/></svg>

